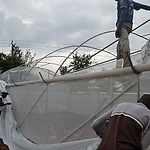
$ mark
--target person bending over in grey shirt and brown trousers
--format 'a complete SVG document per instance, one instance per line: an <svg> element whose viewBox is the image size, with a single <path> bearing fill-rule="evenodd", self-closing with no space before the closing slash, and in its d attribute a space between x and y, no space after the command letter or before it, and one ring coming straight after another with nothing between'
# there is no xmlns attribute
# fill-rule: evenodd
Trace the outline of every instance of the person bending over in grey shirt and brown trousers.
<svg viewBox="0 0 150 150"><path fill-rule="evenodd" d="M137 103L125 102L94 120L102 141L97 150L146 150L150 144L150 95Z"/></svg>

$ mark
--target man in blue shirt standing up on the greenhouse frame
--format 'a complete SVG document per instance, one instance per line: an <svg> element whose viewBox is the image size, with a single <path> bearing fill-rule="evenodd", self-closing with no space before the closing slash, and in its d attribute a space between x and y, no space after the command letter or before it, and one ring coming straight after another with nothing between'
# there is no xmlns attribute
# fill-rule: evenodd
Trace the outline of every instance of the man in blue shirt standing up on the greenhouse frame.
<svg viewBox="0 0 150 150"><path fill-rule="evenodd" d="M135 10L145 9L150 10L150 6L143 5L133 0L115 0L117 1L117 30L116 38L119 38L117 44L117 65L116 68L122 67L122 62L119 59L123 58L123 67L130 67L130 62L127 52L130 56L130 46L128 35L132 32L133 12Z"/></svg>

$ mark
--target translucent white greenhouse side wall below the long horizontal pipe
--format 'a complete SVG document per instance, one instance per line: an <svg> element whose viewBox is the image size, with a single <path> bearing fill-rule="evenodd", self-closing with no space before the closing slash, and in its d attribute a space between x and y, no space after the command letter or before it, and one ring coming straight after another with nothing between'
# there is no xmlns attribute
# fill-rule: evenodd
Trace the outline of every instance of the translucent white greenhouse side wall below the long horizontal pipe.
<svg viewBox="0 0 150 150"><path fill-rule="evenodd" d="M49 84L11 85L7 90L18 127L26 138L42 144L86 141L96 137L90 124L98 115L117 103L136 102L138 92L150 93L149 76L150 72L144 72L139 76L125 74L66 82L54 79Z"/></svg>

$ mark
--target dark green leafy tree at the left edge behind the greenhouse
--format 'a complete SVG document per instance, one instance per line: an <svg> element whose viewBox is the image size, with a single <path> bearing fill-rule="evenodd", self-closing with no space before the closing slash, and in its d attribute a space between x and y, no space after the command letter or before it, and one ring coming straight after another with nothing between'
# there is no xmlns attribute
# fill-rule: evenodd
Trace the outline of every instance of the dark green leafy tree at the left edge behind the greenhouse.
<svg viewBox="0 0 150 150"><path fill-rule="evenodd" d="M22 50L11 42L11 51L10 54L6 55L4 53L0 53L0 72L3 73L11 68L15 68L20 65L27 65L31 62L35 56L32 56L30 50L26 50L24 54Z"/></svg>

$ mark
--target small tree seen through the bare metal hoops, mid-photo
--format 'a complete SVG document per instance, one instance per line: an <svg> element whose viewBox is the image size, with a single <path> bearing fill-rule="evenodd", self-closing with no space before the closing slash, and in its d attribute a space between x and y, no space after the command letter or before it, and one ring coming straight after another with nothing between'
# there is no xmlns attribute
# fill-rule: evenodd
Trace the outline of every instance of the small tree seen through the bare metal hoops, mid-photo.
<svg viewBox="0 0 150 150"><path fill-rule="evenodd" d="M91 61L91 55L78 55L78 53L76 52L73 55L73 61L70 62L69 66L62 66L59 71L61 75L64 75L66 73L71 72L71 70L73 71L77 71L83 68L86 68L88 66L90 66L92 63Z"/></svg>

